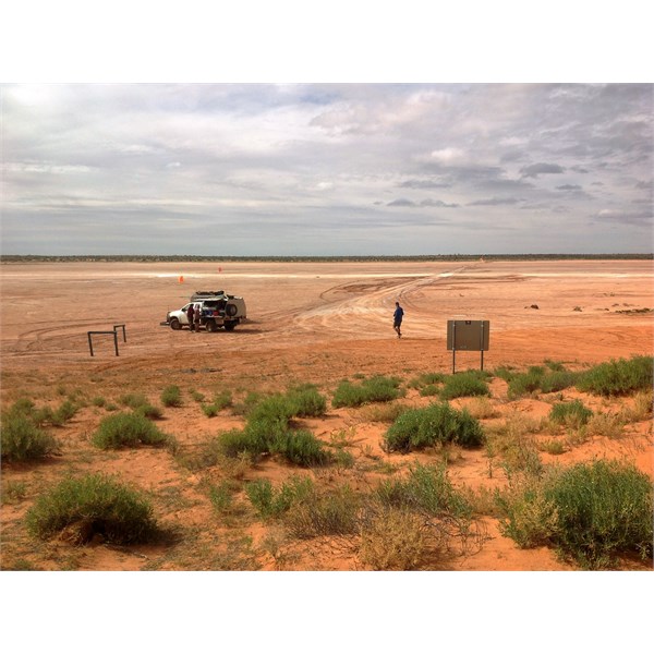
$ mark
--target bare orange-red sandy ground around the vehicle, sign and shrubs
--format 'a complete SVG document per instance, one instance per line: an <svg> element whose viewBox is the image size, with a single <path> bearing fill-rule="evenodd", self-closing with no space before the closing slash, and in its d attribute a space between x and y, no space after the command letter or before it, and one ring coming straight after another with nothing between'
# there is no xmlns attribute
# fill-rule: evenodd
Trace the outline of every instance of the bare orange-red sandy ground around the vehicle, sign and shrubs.
<svg viewBox="0 0 654 654"><path fill-rule="evenodd" d="M183 281L181 278L183 277ZM221 431L242 426L229 411L208 419L192 391L210 396L228 388L280 391L292 384L318 385L328 397L339 380L355 375L397 375L404 380L426 372L451 373L446 347L449 319L487 319L489 350L484 368L525 368L545 361L579 370L610 359L653 351L654 269L646 261L461 262L461 263L225 263L118 264L59 263L0 266L2 405L21 397L56 405L77 393L108 401L143 392L159 403L169 384L184 392L184 405L166 409L160 428L193 447ZM192 334L161 326L169 310L181 307L199 289L242 295L247 320L233 332ZM391 328L395 302L405 312L403 337ZM125 325L116 356L110 337L87 332ZM458 352L457 371L479 368L479 352ZM547 398L509 402L506 385L493 383L500 415L547 414ZM573 391L570 391L571 393ZM572 397L571 395L569 397ZM422 399L409 393L409 403ZM464 405L467 400L458 400ZM584 398L591 408L607 408ZM365 409L365 408L364 408ZM618 410L610 405L608 410ZM175 464L171 455L147 448L100 452L88 443L106 409L90 401L58 428L62 453L40 464L3 464L2 488L23 484L24 497L2 504L3 569L290 569L360 570L350 543L314 540L289 543L257 521L243 523L211 511L202 474ZM362 410L329 410L306 426L325 443L348 438L356 461L366 459L405 469L410 457L387 455L379 443L387 425ZM344 436L343 436L344 435ZM620 439L592 437L556 457L566 464L595 457L634 461L653 475L652 429L630 425ZM450 452L456 484L492 492L506 484L481 451ZM555 459L544 452L544 462ZM437 453L414 457L440 460ZM116 473L150 492L165 523L182 525L182 543L113 548L102 543L74 547L65 542L35 544L23 525L35 497L69 472ZM361 469L363 470L363 469ZM354 471L317 474L325 485L348 481L364 486L377 479ZM241 480L281 482L298 470L266 461ZM484 519L481 547L441 562L447 570L569 570L546 548L519 549L504 537L496 520ZM276 545L272 546L271 543ZM265 546L263 544L266 544ZM626 564L642 569L638 562Z"/></svg>

